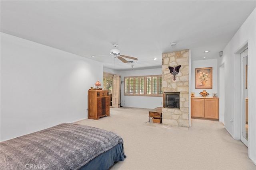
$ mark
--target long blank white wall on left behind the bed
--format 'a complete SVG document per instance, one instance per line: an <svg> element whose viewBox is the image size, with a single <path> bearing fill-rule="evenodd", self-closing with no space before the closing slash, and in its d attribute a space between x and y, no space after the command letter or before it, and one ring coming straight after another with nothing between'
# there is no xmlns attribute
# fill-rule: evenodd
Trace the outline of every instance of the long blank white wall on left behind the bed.
<svg viewBox="0 0 256 170"><path fill-rule="evenodd" d="M100 62L1 33L0 140L88 117L97 80Z"/></svg>

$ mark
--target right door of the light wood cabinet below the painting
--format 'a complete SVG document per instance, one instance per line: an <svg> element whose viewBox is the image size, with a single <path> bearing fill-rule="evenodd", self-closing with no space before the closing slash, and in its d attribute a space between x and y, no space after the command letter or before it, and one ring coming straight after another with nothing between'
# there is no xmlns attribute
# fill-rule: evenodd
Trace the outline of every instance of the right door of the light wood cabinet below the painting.
<svg viewBox="0 0 256 170"><path fill-rule="evenodd" d="M209 119L218 119L218 99L204 100L204 117Z"/></svg>

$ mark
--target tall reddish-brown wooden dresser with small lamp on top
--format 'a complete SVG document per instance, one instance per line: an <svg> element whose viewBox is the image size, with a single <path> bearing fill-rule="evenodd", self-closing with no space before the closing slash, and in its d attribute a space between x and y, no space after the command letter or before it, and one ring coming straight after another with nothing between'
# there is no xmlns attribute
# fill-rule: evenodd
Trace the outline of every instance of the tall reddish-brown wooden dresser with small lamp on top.
<svg viewBox="0 0 256 170"><path fill-rule="evenodd" d="M109 90L88 90L88 119L110 115Z"/></svg>

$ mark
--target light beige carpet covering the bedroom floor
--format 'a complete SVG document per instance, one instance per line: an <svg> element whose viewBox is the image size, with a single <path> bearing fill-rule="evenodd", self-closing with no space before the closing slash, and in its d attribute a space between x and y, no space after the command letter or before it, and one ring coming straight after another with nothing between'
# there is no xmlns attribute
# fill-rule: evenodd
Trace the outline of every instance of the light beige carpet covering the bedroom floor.
<svg viewBox="0 0 256 170"><path fill-rule="evenodd" d="M111 170L256 170L248 148L232 139L218 121L192 119L191 127L148 123L148 111L110 108L110 116L78 124L118 133L124 139L124 161Z"/></svg>

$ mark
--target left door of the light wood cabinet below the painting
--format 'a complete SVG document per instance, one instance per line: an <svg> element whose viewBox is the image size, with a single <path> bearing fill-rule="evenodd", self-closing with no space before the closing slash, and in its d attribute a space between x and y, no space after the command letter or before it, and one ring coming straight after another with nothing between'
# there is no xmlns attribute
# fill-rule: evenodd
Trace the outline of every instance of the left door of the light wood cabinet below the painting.
<svg viewBox="0 0 256 170"><path fill-rule="evenodd" d="M204 99L191 98L191 117L204 117Z"/></svg>

